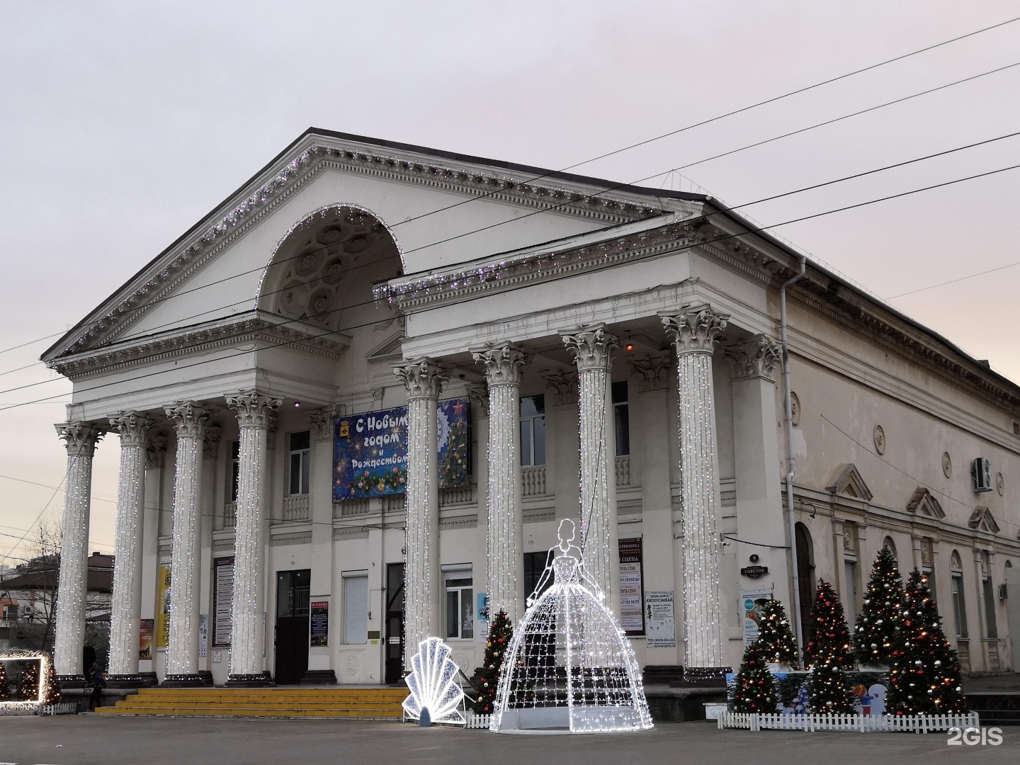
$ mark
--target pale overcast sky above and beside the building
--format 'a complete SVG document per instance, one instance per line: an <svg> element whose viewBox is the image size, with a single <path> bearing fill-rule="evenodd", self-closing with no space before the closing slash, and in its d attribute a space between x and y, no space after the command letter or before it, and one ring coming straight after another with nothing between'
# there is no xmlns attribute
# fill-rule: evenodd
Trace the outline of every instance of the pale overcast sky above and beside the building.
<svg viewBox="0 0 1020 765"><path fill-rule="evenodd" d="M1018 15L959 0L5 0L0 407L68 392L38 362L56 337L41 339L309 125L561 168ZM1020 21L575 171L633 182L1017 62ZM1018 93L1020 66L647 183L741 205L1020 131ZM1017 163L1008 139L747 212L778 223ZM1018 192L1013 170L776 233L891 298L1020 261ZM1020 380L1018 288L1020 266L891 304ZM60 517L63 414L60 399L0 411L0 564ZM117 447L97 452L93 550L113 548Z"/></svg>

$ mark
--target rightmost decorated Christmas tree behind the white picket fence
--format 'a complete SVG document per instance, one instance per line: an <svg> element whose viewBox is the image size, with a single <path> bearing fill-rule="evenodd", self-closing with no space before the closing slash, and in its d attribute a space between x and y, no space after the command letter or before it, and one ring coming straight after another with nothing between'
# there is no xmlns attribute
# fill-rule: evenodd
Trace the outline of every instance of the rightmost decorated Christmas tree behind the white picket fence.
<svg viewBox="0 0 1020 765"><path fill-rule="evenodd" d="M927 577L916 568L904 591L901 617L903 625L889 667L886 712L899 715L967 712L956 651L942 632L942 619L928 590Z"/></svg>

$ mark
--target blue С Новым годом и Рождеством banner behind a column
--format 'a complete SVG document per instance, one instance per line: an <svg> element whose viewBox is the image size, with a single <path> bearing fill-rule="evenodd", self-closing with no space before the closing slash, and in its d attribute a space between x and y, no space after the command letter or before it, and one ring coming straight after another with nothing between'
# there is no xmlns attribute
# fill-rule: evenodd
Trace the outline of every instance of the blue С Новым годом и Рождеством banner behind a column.
<svg viewBox="0 0 1020 765"><path fill-rule="evenodd" d="M436 434L441 489L467 484L467 399L439 402ZM338 417L334 422L333 499L403 494L407 481L407 407Z"/></svg>

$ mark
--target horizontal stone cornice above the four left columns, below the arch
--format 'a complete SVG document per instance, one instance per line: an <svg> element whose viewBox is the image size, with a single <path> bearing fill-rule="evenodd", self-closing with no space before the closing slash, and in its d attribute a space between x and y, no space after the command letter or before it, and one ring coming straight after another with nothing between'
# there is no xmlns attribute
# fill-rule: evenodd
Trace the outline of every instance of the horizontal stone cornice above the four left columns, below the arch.
<svg viewBox="0 0 1020 765"><path fill-rule="evenodd" d="M318 327L288 321L260 311L207 321L159 335L132 339L95 352L62 356L47 362L72 380L99 374L111 367L151 364L157 361L205 352L242 342L264 341L293 345L307 353L339 359L350 338L339 333L323 334Z"/></svg>

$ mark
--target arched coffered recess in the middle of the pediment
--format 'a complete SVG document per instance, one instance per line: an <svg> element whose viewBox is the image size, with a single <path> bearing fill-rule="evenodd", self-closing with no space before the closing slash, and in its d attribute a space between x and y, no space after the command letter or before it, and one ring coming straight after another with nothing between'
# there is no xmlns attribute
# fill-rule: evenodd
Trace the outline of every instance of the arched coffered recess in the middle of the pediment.
<svg viewBox="0 0 1020 765"><path fill-rule="evenodd" d="M401 251L378 216L337 203L305 215L276 245L255 299L260 311L329 332L392 319L372 285L401 275Z"/></svg>

